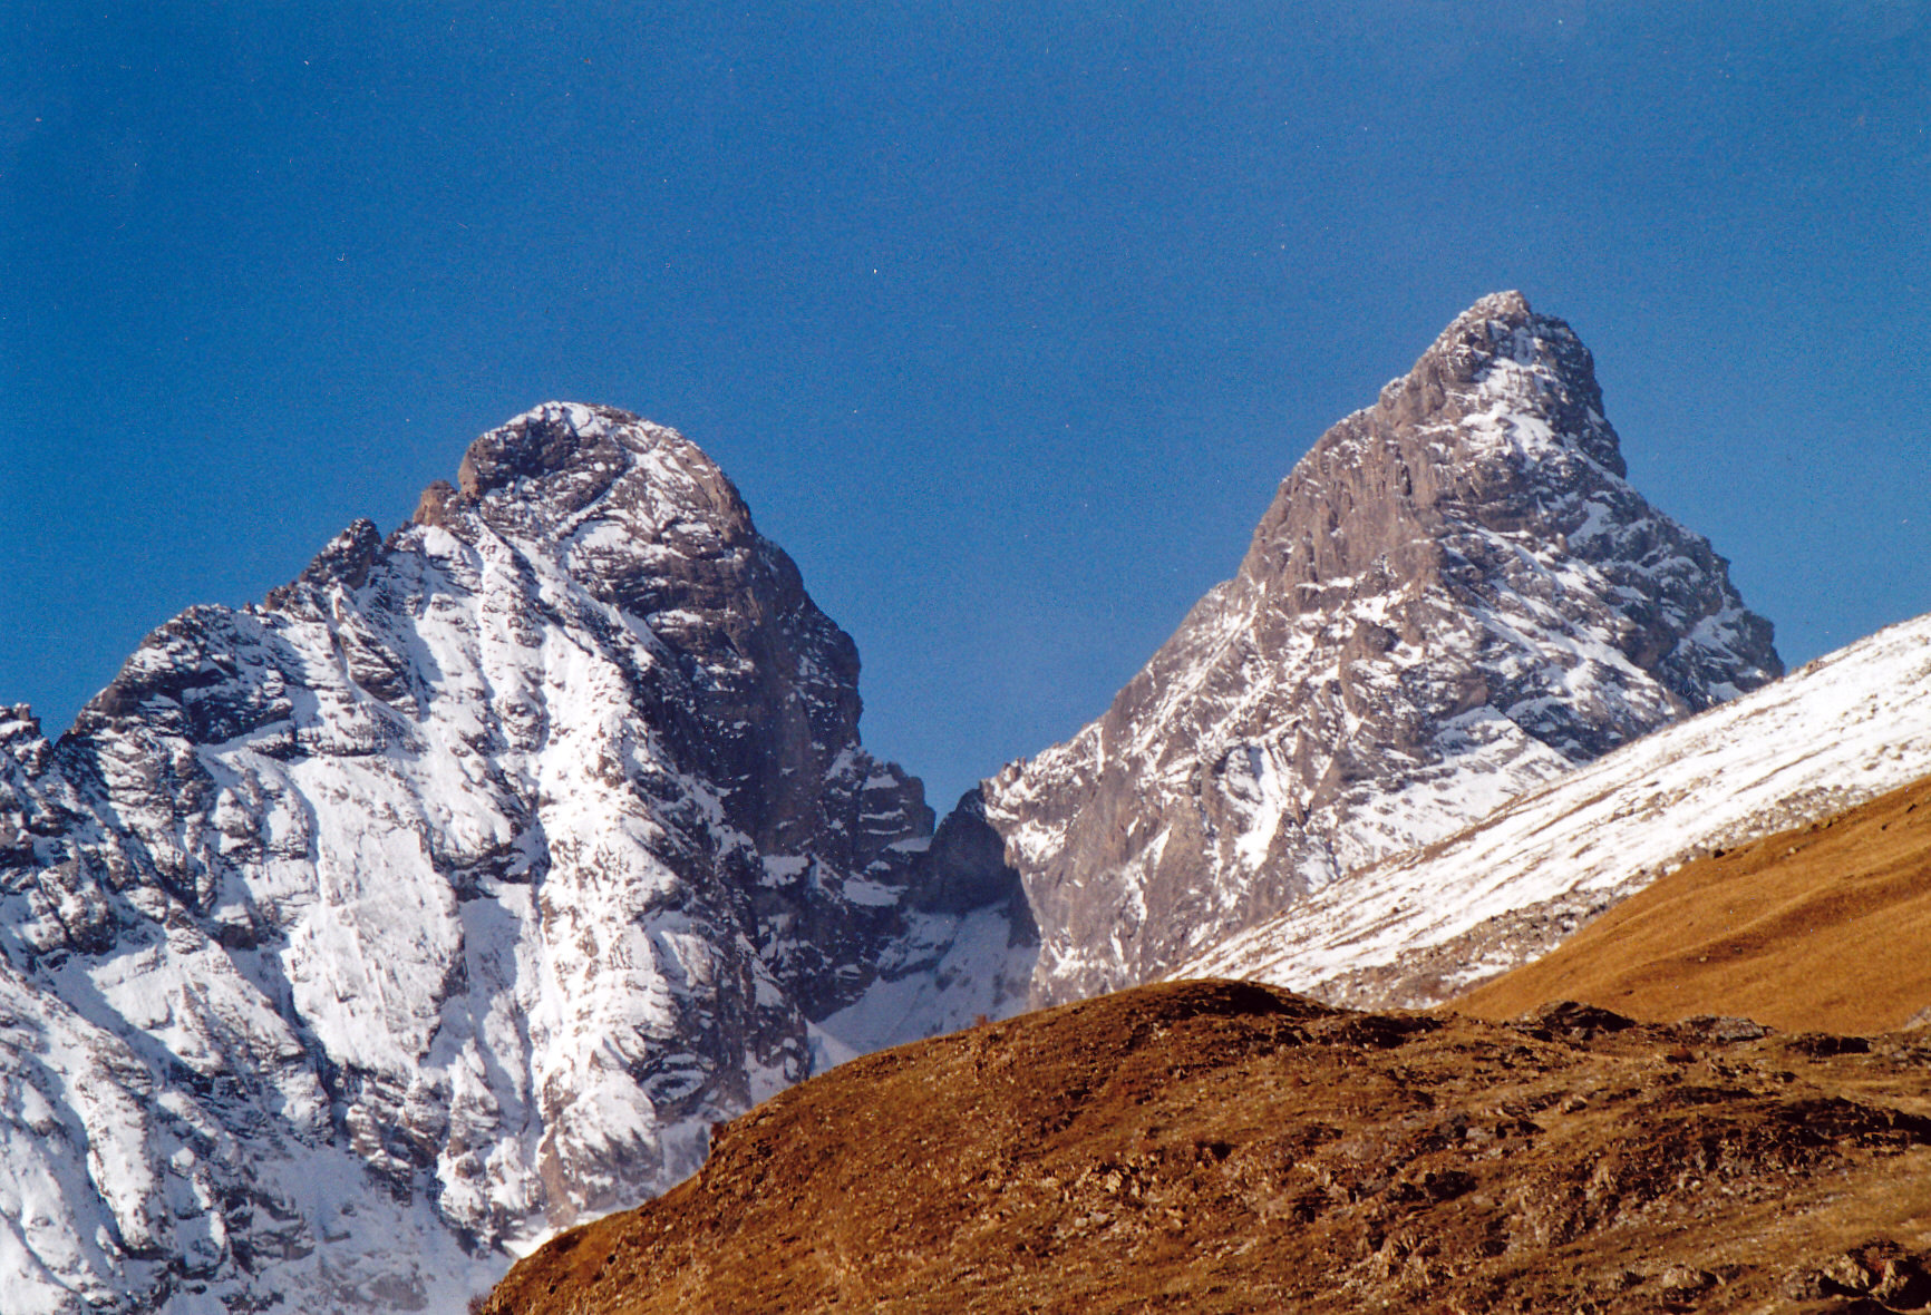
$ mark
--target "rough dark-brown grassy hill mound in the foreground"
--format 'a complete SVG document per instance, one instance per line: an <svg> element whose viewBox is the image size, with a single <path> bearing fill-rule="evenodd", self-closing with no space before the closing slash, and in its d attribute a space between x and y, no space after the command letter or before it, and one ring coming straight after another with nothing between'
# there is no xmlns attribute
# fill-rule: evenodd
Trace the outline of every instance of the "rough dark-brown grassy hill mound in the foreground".
<svg viewBox="0 0 1931 1315"><path fill-rule="evenodd" d="M489 1315L1931 1303L1931 1035L1168 983L846 1064Z"/></svg>

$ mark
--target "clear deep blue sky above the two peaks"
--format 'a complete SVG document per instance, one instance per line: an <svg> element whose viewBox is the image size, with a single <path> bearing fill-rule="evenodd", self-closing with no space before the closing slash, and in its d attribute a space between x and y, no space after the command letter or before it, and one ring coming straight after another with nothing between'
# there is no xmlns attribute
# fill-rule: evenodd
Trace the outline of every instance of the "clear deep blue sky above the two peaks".
<svg viewBox="0 0 1931 1315"><path fill-rule="evenodd" d="M1927 87L1912 0L0 0L0 699L606 402L944 805L1498 288L1794 664L1931 610Z"/></svg>

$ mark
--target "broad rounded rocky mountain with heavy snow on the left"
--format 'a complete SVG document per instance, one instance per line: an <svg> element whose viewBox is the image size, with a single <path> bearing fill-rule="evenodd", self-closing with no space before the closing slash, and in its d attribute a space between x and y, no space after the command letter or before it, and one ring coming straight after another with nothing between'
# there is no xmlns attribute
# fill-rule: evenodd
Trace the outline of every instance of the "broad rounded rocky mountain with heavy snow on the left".
<svg viewBox="0 0 1931 1315"><path fill-rule="evenodd" d="M716 465L550 404L458 483L0 720L8 1315L456 1309L815 1041L1018 1004L996 838Z"/></svg>

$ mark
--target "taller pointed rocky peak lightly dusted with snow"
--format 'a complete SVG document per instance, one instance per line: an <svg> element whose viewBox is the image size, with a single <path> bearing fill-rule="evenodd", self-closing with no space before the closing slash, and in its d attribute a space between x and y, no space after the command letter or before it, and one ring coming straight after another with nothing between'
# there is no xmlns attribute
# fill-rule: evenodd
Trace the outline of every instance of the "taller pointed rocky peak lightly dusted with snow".
<svg viewBox="0 0 1931 1315"><path fill-rule="evenodd" d="M1294 467L1240 574L1074 740L987 782L1037 1002L1157 977L1780 674L1624 479L1589 351L1483 297Z"/></svg>

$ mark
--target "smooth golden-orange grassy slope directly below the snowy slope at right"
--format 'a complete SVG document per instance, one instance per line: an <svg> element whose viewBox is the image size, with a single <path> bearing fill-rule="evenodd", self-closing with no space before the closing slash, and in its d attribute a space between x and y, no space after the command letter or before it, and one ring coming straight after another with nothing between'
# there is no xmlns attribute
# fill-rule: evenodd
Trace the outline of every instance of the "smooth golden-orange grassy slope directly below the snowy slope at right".
<svg viewBox="0 0 1931 1315"><path fill-rule="evenodd" d="M1512 1018L1545 1000L1900 1027L1931 1006L1931 780L1688 863L1448 1008Z"/></svg>

